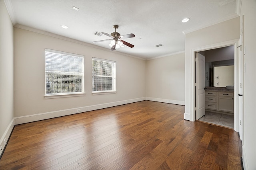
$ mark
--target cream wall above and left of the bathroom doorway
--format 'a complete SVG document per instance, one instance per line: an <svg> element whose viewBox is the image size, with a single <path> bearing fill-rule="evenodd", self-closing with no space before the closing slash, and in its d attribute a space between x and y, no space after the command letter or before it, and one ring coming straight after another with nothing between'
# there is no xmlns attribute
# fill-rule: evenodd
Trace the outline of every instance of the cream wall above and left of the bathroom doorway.
<svg viewBox="0 0 256 170"><path fill-rule="evenodd" d="M185 37L185 113L184 119L192 120L194 97L192 82L194 72L192 62L194 61L192 53L194 50L210 48L212 45L218 45L221 42L227 42L240 37L240 18L233 18L215 25L199 29L197 31L186 33ZM200 49L200 50L199 50Z"/></svg>

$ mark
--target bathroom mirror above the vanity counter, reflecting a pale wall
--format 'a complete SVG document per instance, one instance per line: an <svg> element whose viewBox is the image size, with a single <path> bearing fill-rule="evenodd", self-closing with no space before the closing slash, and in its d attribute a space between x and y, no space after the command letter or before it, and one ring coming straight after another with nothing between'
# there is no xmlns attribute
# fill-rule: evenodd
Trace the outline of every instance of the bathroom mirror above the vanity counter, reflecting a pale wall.
<svg viewBox="0 0 256 170"><path fill-rule="evenodd" d="M226 87L234 85L234 65L213 66L213 86Z"/></svg>

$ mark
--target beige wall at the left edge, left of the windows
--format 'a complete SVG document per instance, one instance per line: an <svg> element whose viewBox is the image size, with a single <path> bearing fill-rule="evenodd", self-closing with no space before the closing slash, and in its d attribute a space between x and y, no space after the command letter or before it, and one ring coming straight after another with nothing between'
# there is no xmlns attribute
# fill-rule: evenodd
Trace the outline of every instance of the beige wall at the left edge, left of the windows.
<svg viewBox="0 0 256 170"><path fill-rule="evenodd" d="M13 26L4 1L0 1L0 147L14 127Z"/></svg>

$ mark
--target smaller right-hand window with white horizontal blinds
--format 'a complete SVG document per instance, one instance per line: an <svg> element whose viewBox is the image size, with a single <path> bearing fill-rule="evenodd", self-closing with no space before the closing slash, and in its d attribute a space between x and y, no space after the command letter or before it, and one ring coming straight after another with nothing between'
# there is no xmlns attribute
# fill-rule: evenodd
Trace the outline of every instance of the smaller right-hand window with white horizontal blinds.
<svg viewBox="0 0 256 170"><path fill-rule="evenodd" d="M92 58L92 92L116 91L116 62Z"/></svg>

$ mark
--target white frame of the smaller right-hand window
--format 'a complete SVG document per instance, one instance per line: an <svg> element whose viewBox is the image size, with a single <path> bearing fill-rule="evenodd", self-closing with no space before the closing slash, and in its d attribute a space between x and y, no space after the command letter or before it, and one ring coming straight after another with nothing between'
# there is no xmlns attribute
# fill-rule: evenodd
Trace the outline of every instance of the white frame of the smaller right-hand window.
<svg viewBox="0 0 256 170"><path fill-rule="evenodd" d="M111 76L104 76L104 75L94 75L94 64L93 61L102 61L105 63L111 63L112 64L112 75ZM94 91L94 77L112 77L112 90L98 90ZM110 61L106 59L99 59L99 58L92 58L92 94L112 94L116 93L116 62L115 61Z"/></svg>

